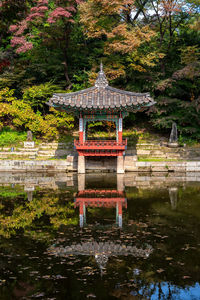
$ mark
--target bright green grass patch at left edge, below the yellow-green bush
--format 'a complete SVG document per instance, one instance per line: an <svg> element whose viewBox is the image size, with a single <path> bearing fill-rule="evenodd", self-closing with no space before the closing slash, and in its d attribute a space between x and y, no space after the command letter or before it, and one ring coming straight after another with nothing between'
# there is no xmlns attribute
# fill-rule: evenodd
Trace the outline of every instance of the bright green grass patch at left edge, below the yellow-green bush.
<svg viewBox="0 0 200 300"><path fill-rule="evenodd" d="M4 128L0 132L0 147L16 146L26 141L27 133Z"/></svg>

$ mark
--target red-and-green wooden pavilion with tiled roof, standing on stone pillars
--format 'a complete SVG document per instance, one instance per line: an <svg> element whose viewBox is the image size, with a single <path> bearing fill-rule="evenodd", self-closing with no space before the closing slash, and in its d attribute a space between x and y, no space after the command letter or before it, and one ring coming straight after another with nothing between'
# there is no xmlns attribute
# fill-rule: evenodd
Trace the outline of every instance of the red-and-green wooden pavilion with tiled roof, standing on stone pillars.
<svg viewBox="0 0 200 300"><path fill-rule="evenodd" d="M74 141L78 152L78 173L85 173L85 157L117 157L117 173L124 173L127 140L122 138L123 118L129 112L143 111L155 104L149 93L134 93L108 85L101 63L95 85L74 93L54 94L47 103L79 118L79 140ZM116 124L116 140L88 140L87 123L112 121Z"/></svg>

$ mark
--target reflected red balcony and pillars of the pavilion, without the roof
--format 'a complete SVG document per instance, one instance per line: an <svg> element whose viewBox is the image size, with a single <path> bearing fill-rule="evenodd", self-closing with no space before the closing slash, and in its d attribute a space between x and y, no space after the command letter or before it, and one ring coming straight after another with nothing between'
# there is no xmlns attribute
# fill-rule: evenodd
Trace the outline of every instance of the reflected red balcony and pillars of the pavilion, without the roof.
<svg viewBox="0 0 200 300"><path fill-rule="evenodd" d="M115 207L116 224L122 227L122 209L123 207L127 208L127 200L121 180L118 180L117 189L85 189L85 175L79 175L78 189L79 192L75 198L75 207L79 207L80 227L86 224L87 207Z"/></svg>

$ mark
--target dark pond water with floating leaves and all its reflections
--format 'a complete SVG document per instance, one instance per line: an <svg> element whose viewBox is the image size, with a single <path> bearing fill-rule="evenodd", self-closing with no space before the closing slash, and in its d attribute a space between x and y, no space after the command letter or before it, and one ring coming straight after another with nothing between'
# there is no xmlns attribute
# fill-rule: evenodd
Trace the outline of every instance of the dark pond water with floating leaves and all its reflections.
<svg viewBox="0 0 200 300"><path fill-rule="evenodd" d="M200 299L194 179L11 179L0 186L0 299Z"/></svg>

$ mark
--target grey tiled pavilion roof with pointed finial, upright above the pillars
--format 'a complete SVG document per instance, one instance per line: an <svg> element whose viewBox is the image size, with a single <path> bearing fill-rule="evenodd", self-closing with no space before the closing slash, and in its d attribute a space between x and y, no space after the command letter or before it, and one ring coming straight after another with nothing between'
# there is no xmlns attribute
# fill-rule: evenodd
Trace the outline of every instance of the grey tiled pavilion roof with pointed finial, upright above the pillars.
<svg viewBox="0 0 200 300"><path fill-rule="evenodd" d="M93 87L74 93L53 94L47 104L75 114L102 111L117 113L143 110L154 105L155 101L149 93L134 93L109 86L101 64Z"/></svg>

